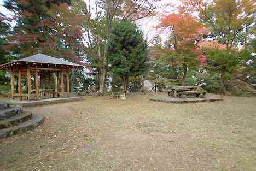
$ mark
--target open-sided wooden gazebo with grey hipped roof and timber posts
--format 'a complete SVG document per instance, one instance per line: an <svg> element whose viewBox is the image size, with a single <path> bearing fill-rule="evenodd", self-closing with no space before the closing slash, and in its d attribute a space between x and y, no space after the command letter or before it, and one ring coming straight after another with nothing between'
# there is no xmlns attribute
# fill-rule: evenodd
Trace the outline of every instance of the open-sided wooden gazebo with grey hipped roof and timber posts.
<svg viewBox="0 0 256 171"><path fill-rule="evenodd" d="M0 65L10 70L11 98L21 100L68 97L69 70L79 67L83 66L44 54Z"/></svg>

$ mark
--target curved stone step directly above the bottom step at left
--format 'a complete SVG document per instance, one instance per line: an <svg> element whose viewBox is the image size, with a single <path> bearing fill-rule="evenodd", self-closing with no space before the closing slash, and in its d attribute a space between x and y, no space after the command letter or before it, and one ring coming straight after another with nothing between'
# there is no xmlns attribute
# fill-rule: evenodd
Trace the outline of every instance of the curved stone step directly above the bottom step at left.
<svg viewBox="0 0 256 171"><path fill-rule="evenodd" d="M27 120L30 120L32 117L32 113L30 111L27 111L20 115L15 115L13 117L10 117L9 119L5 119L0 121L0 129L9 128L12 126L17 126L19 123L26 122Z"/></svg>

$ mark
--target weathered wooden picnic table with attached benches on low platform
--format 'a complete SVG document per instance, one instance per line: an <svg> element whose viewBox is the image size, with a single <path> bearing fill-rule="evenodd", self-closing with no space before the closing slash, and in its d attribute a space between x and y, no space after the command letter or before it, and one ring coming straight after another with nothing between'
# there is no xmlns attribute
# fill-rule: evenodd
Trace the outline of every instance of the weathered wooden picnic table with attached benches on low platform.
<svg viewBox="0 0 256 171"><path fill-rule="evenodd" d="M205 97L206 91L197 91L199 86L176 86L176 87L167 87L166 91L168 96L173 97Z"/></svg>

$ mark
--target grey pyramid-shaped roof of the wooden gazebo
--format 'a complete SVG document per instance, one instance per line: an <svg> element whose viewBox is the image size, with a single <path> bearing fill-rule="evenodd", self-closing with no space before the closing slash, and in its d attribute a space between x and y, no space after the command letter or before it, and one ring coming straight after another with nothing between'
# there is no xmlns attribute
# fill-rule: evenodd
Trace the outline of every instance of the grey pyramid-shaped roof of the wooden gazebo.
<svg viewBox="0 0 256 171"><path fill-rule="evenodd" d="M10 68L13 66L19 66L19 64L22 64L22 63L26 63L26 64L33 63L33 64L44 64L44 65L45 64L48 64L48 65L54 64L57 66L82 67L82 65L80 65L80 64L60 60L59 58L56 58L56 57L51 57L51 56L44 55L44 54L36 54L36 55L25 57L25 58L22 58L20 60L16 60L13 62L4 63L4 64L0 65L0 69Z"/></svg>

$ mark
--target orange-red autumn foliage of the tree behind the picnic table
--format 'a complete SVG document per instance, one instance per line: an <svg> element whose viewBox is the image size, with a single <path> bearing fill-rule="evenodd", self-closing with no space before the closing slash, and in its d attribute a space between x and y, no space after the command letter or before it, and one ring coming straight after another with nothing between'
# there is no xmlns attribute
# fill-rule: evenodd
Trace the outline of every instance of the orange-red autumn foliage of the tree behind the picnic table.
<svg viewBox="0 0 256 171"><path fill-rule="evenodd" d="M172 35L168 44L173 45L175 51L193 53L200 63L205 64L207 62L199 44L203 36L209 31L195 17L180 10L179 14L169 14L162 17L157 28Z"/></svg>

